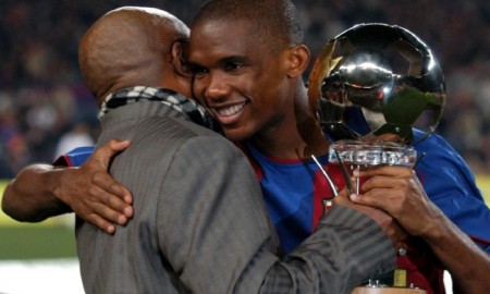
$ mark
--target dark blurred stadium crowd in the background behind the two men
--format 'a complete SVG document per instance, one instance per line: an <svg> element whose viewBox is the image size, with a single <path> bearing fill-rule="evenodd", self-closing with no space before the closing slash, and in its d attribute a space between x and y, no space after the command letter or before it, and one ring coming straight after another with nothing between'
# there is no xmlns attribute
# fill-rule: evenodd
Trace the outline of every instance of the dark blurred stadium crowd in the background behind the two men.
<svg viewBox="0 0 490 294"><path fill-rule="evenodd" d="M0 1L0 179L94 144L96 103L77 68L77 45L100 15L157 7L189 23L204 1ZM476 173L490 172L490 2L487 0L298 0L315 57L357 23L397 24L433 50L446 77L442 134ZM233 41L231 38L230 41Z"/></svg>

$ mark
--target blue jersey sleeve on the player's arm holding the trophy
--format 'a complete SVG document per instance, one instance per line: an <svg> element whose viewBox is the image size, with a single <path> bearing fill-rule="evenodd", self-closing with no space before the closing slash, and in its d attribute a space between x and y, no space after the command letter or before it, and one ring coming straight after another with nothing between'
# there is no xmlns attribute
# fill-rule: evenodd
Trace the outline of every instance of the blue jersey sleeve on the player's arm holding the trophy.
<svg viewBox="0 0 490 294"><path fill-rule="evenodd" d="M414 147L424 158L415 168L429 198L475 243L490 253L490 209L464 159L432 134Z"/></svg>

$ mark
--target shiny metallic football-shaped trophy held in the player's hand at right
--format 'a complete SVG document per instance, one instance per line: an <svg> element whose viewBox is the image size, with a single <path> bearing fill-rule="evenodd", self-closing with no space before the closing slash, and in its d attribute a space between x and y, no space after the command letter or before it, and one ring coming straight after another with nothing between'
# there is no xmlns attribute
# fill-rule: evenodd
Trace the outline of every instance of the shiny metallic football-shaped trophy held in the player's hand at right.
<svg viewBox="0 0 490 294"><path fill-rule="evenodd" d="M352 170L379 164L413 168L424 156L409 146L412 127L424 131L420 139L436 130L445 84L430 48L412 32L359 24L326 44L311 69L308 97L332 140L329 162L340 166L350 192L358 194L359 182L354 186L350 181ZM412 292L379 292L383 289L373 284L365 287L371 292L363 289L355 293L425 293L409 287L405 290Z"/></svg>

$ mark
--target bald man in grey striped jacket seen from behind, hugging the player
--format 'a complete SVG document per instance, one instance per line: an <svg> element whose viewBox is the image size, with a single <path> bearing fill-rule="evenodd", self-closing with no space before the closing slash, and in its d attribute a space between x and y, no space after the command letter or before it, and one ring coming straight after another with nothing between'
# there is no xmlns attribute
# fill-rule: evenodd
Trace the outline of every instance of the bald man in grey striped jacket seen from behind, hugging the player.
<svg viewBox="0 0 490 294"><path fill-rule="evenodd" d="M135 211L113 235L77 219L85 291L348 293L393 269L392 242L348 208L346 189L317 232L281 258L247 159L175 91L188 94L187 34L166 12L128 7L103 15L82 39L79 65L100 106L98 146L131 140L110 172L133 193Z"/></svg>

